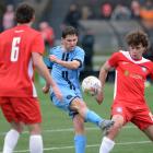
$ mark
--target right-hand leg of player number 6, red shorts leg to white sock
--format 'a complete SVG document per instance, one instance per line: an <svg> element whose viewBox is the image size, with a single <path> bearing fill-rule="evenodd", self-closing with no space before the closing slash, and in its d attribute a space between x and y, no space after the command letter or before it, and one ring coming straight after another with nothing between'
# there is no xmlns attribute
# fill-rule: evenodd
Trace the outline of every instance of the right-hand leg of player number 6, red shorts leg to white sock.
<svg viewBox="0 0 153 153"><path fill-rule="evenodd" d="M37 98L25 98L23 106L25 107L25 111L22 118L30 130L30 152L43 153L43 137L40 128L42 114L39 102Z"/></svg>

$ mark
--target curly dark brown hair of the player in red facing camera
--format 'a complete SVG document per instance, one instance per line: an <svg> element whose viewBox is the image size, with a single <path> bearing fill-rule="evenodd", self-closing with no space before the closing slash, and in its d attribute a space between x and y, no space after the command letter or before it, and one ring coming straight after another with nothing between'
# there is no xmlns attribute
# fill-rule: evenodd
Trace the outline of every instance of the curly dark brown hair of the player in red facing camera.
<svg viewBox="0 0 153 153"><path fill-rule="evenodd" d="M143 47L149 47L149 37L143 31L133 31L126 36L127 44L129 46L142 45Z"/></svg>

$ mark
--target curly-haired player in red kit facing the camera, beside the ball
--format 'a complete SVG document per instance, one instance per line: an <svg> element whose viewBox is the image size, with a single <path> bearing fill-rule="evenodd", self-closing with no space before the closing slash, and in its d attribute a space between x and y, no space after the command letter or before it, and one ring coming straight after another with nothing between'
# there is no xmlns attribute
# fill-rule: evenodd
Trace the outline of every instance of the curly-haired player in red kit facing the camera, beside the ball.
<svg viewBox="0 0 153 153"><path fill-rule="evenodd" d="M119 50L104 63L99 71L99 80L105 85L108 71L116 70L114 104L111 119L115 121L108 133L103 138L99 153L109 153L115 145L115 138L128 122L134 123L153 141L153 116L144 99L144 82L148 75L153 76L153 62L143 58L149 47L144 32L134 31L127 35L128 51ZM102 103L103 90L96 99Z"/></svg>

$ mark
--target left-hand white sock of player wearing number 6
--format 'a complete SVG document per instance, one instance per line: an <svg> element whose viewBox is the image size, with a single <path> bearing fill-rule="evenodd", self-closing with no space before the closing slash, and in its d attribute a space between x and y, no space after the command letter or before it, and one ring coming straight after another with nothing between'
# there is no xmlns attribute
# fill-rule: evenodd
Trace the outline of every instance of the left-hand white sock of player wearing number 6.
<svg viewBox="0 0 153 153"><path fill-rule="evenodd" d="M19 137L20 133L16 130L11 129L5 134L2 153L12 153L14 151L14 148L16 146Z"/></svg>

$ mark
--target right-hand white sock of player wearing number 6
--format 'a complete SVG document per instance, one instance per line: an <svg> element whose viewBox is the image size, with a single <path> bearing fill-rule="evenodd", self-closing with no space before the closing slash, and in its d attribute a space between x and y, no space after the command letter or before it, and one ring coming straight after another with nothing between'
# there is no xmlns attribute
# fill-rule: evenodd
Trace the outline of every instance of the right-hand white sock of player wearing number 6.
<svg viewBox="0 0 153 153"><path fill-rule="evenodd" d="M30 137L30 152L43 153L43 139L40 134L33 134Z"/></svg>

